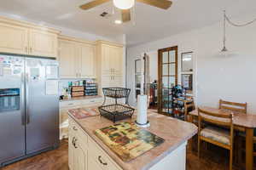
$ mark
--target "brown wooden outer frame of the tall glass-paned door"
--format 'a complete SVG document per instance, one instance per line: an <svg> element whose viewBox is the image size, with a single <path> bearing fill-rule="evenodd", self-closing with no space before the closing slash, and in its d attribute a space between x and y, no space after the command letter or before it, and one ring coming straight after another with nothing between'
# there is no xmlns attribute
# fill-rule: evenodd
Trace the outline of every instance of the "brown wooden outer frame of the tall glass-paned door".
<svg viewBox="0 0 256 170"><path fill-rule="evenodd" d="M166 51L172 51L172 50L175 50L175 71L176 71L176 74L175 74L175 85L177 85L177 64L178 64L178 60L177 60L177 46L173 46L173 47L170 47L170 48L161 48L158 50L158 84L157 84L157 87L158 87L158 113L160 114L163 114L163 115L168 115L168 114L165 114L162 112L162 54L163 52L166 52ZM169 57L169 56L168 56ZM168 115L170 116L170 115Z"/></svg>

